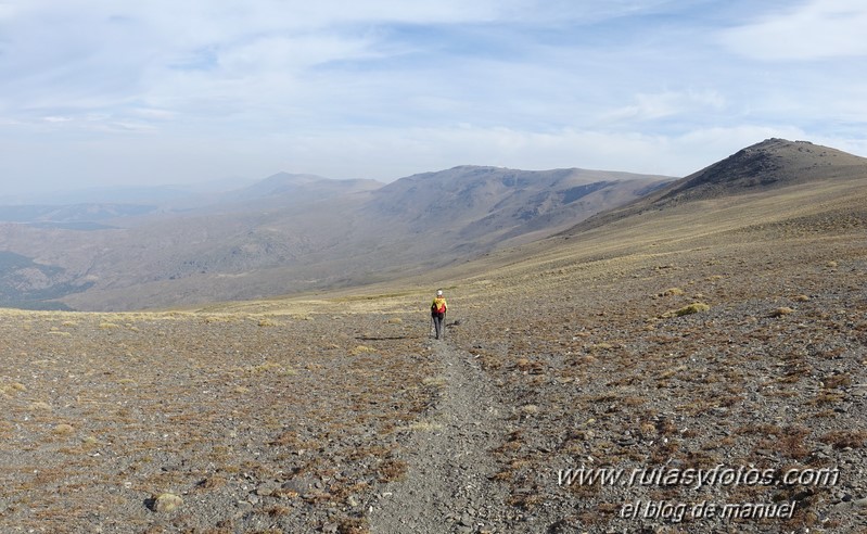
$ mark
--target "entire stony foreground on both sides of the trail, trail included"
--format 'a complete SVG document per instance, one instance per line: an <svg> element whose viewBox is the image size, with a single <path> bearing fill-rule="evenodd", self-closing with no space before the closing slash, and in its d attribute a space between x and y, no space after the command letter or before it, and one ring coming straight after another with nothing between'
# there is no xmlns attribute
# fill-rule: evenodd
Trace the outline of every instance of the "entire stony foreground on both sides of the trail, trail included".
<svg viewBox="0 0 867 534"><path fill-rule="evenodd" d="M439 342L419 293L5 312L0 530L862 532L865 272L862 233L551 260L446 288Z"/></svg>

